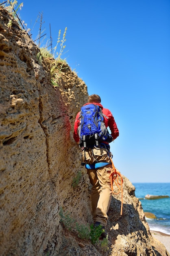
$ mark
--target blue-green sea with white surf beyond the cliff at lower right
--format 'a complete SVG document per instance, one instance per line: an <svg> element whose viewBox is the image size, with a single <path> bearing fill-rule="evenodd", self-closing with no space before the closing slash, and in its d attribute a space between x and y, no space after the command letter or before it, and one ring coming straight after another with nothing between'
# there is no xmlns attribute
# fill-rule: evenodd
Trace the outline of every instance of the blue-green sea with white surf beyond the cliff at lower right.
<svg viewBox="0 0 170 256"><path fill-rule="evenodd" d="M154 213L157 219L146 218L153 231L160 231L170 235L170 198L155 200L145 199L145 195L169 195L170 183L133 183L135 196L142 203L144 211Z"/></svg>

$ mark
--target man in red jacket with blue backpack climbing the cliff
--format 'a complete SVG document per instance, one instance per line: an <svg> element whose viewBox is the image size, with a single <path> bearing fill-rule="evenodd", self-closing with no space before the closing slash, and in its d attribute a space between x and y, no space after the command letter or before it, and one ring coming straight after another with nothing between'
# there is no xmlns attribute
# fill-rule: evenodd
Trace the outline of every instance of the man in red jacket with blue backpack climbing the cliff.
<svg viewBox="0 0 170 256"><path fill-rule="evenodd" d="M88 116L86 118L86 116L84 115L84 108L81 109L81 112L78 112L74 123L73 136L76 143L79 144L82 149L83 162L85 163L85 167L87 168L87 174L89 175L89 180L92 184L91 200L94 227L102 225L102 228L105 229L108 220L107 212L109 210L112 193L111 182L109 179L109 173L112 170L109 142L113 141L119 136L119 130L110 110L107 108L103 108L100 102L100 96L98 96L97 94L92 94L88 97L88 103L84 105L86 111L85 115L87 114ZM91 115L89 113L90 111L94 111L92 109L93 107L98 108L100 110L99 112L102 111L104 126L105 128L109 126L111 130L111 136L108 135L107 132L104 133L100 131L100 134L102 135L95 135L94 140L92 140L92 123L94 115ZM83 121L82 118L84 118ZM91 133L89 136L81 136L81 130L84 129L82 122L86 122L86 124L84 125L85 128L90 127ZM102 124L100 124L100 126L103 126ZM104 231L101 236L106 237L106 231Z"/></svg>

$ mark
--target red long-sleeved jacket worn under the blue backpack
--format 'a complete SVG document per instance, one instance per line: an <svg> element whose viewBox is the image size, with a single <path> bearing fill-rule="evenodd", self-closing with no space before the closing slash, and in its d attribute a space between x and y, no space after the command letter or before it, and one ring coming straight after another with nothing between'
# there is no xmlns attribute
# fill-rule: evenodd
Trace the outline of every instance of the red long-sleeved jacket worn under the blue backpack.
<svg viewBox="0 0 170 256"><path fill-rule="evenodd" d="M118 130L118 127L116 125L115 119L112 116L110 110L107 109L107 108L103 108L103 106L100 103L86 103L85 105L88 105L88 104L94 104L94 105L100 106L100 108L102 109L103 114L106 115L107 117L109 117L107 119L105 116L103 116L104 117L105 126L106 126L106 128L109 126L109 128L111 130L111 136L113 137L113 139L116 139L119 136L119 130ZM76 115L76 119L75 119L75 122L74 122L74 134L73 134L73 137L74 137L74 140L76 142L78 142L80 140L79 137L78 137L78 130L77 130L78 126L80 125L79 117L80 117L80 112L78 112L78 114Z"/></svg>

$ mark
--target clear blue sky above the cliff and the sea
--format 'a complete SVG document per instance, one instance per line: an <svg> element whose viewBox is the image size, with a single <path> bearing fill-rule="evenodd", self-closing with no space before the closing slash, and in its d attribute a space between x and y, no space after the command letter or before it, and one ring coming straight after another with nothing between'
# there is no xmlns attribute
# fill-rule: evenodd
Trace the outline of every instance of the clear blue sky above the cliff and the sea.
<svg viewBox="0 0 170 256"><path fill-rule="evenodd" d="M18 1L20 3L21 1ZM170 182L170 1L23 0L20 17L57 43L68 27L68 64L99 94L115 117L120 136L113 162L135 182Z"/></svg>

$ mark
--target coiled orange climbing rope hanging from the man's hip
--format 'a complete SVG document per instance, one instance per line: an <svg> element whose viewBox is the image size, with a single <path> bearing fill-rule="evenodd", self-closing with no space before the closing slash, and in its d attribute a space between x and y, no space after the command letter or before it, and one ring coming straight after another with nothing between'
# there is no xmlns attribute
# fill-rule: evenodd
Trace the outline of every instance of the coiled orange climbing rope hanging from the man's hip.
<svg viewBox="0 0 170 256"><path fill-rule="evenodd" d="M111 157L110 157L110 160L111 160L111 165L112 165L112 170L111 170L111 173L109 175L109 178L110 178L110 181L111 181L111 191L112 191L113 194L118 195L120 193L120 186L121 186L122 198L121 198L120 215L122 215L122 209L123 209L123 187L122 187L122 184L123 184L123 179L122 179L122 175L120 174L120 172L116 170ZM120 177L120 182L119 182L119 177ZM116 186L118 187L118 192L117 193L115 193L113 191L113 183L114 182L115 182Z"/></svg>

